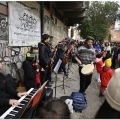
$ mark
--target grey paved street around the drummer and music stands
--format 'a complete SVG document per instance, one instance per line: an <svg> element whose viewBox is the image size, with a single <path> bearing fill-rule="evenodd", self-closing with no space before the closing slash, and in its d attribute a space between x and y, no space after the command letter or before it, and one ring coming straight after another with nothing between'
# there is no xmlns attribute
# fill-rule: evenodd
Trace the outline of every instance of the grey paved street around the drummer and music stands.
<svg viewBox="0 0 120 120"><path fill-rule="evenodd" d="M75 112L71 114L72 119L93 119L96 111L98 110L99 106L104 101L104 98L99 98L99 85L100 83L96 82L96 70L94 70L92 83L86 90L86 99L88 102L87 108L82 112ZM52 79L55 80L55 74L52 73ZM63 84L63 74L57 75L57 86ZM65 79L65 85L69 86L63 89L63 86L56 88L56 97L60 98L61 96L70 96L72 92L79 91L79 73L78 73L78 66L76 63L73 63L70 70L69 76ZM52 84L53 88L53 97L55 97L55 83ZM65 90L65 91L64 91Z"/></svg>

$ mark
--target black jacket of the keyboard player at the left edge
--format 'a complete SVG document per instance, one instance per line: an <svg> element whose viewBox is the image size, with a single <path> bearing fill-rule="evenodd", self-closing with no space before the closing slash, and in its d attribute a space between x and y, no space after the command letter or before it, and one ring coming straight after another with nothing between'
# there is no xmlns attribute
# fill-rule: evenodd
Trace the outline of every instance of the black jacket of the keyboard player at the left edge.
<svg viewBox="0 0 120 120"><path fill-rule="evenodd" d="M4 74L0 73L0 106L8 105L11 96L17 96L17 91L12 87Z"/></svg>

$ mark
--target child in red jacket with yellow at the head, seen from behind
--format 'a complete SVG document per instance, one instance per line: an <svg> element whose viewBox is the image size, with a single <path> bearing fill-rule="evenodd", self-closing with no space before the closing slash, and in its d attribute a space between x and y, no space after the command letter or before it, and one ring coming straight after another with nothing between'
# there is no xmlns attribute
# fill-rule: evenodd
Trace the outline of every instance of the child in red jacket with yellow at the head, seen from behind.
<svg viewBox="0 0 120 120"><path fill-rule="evenodd" d="M110 79L112 78L113 71L110 68L111 67L111 55L107 54L105 59L104 59L104 63L105 66L103 66L101 72L100 72L100 78L101 78L101 86L100 86L100 94L99 97L103 97L104 96L104 91L105 88L107 87Z"/></svg>

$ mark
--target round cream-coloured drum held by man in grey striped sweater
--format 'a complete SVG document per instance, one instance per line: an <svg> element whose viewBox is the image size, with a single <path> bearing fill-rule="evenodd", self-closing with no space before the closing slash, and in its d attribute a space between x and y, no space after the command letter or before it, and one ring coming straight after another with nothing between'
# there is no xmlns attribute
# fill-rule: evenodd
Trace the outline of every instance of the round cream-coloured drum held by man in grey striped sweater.
<svg viewBox="0 0 120 120"><path fill-rule="evenodd" d="M81 73L83 75L89 75L93 72L94 70L94 65L93 64L87 64L81 69Z"/></svg>

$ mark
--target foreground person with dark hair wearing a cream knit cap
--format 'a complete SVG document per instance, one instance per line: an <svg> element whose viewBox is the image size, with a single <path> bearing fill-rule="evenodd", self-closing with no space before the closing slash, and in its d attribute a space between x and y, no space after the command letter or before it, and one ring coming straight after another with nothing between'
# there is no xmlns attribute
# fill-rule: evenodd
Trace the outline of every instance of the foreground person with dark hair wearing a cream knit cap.
<svg viewBox="0 0 120 120"><path fill-rule="evenodd" d="M105 91L105 101L98 109L95 119L120 119L120 68L115 69L114 76Z"/></svg>

